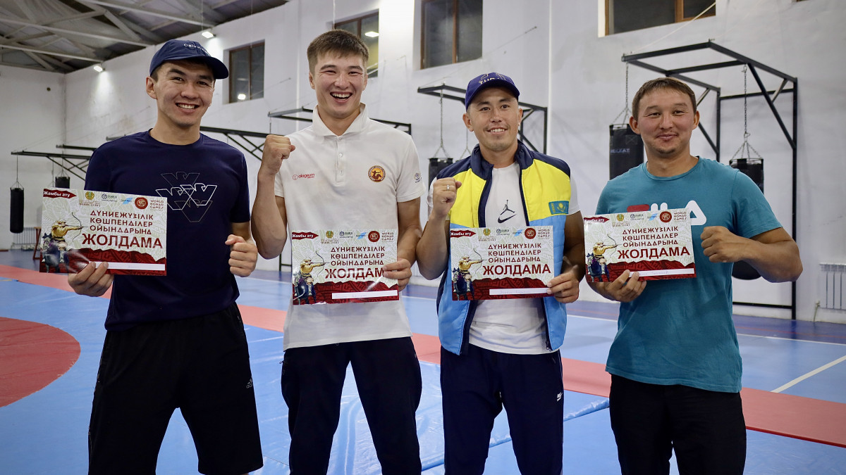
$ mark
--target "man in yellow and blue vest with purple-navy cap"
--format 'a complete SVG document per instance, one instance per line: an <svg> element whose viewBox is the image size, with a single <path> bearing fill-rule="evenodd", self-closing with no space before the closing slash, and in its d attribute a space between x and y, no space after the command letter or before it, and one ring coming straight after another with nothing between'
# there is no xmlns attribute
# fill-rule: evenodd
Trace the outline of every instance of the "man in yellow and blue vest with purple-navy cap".
<svg viewBox="0 0 846 475"><path fill-rule="evenodd" d="M579 298L585 240L570 168L529 150L518 137L523 111L508 76L482 74L464 96L464 125L479 140L472 154L437 174L429 221L417 244L437 298L445 469L481 473L493 420L505 408L524 474L560 474L563 457L561 355L565 303ZM453 300L450 229L552 226L554 269L547 296Z"/></svg>

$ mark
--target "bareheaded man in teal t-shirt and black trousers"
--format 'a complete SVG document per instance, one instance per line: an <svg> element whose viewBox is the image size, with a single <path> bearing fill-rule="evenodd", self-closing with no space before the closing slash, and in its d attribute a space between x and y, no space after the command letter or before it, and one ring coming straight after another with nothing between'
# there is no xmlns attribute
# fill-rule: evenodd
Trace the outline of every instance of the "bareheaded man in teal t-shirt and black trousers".
<svg viewBox="0 0 846 475"><path fill-rule="evenodd" d="M741 362L732 321L732 266L746 261L767 281L794 281L799 248L761 190L739 171L690 155L696 100L677 79L653 79L632 101L629 123L646 162L608 182L597 214L686 208L696 277L641 281L624 271L591 282L620 302L608 354L611 426L622 472L742 473L746 431Z"/></svg>

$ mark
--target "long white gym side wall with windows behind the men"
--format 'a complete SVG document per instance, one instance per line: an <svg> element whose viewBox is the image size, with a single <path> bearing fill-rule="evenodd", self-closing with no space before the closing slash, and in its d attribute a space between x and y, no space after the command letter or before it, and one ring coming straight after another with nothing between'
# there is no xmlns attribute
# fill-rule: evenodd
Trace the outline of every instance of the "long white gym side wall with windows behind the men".
<svg viewBox="0 0 846 475"><path fill-rule="evenodd" d="M441 109L437 98L417 94L420 86L465 87L478 74L496 70L515 79L525 102L550 107L548 153L567 160L579 181L580 203L585 213L596 205L608 173L607 127L624 107L624 53L654 51L714 39L726 46L799 78L799 205L796 210L797 241L805 263L799 280L799 319L811 319L820 295L820 262L846 262L846 226L842 205L846 187L843 135L846 95L846 33L840 27L846 9L839 0L721 0L717 16L681 25L631 31L601 37L597 3L525 0L514 8L509 0L487 0L484 6L483 57L475 61L420 70L420 0L331 0L291 2L282 7L215 28L217 38L199 36L212 54L255 41L266 41L266 92L263 99L226 104L226 81L220 81L215 105L204 124L259 132L287 134L302 123L268 119L267 113L313 107L314 92L307 80L305 47L326 30L333 19L348 19L380 9L380 70L371 79L364 101L371 117L413 124L420 151L420 167L426 172L428 157L440 144ZM66 76L67 142L99 145L107 136L129 134L149 128L155 121L154 103L144 94L144 77L154 48L135 52L107 63L107 72L96 75L83 70ZM689 53L662 58L667 68L711 63L714 55ZM722 59L724 60L724 59ZM739 68L707 74L691 74L719 85L724 95L743 91ZM762 75L769 88L777 82ZM629 97L656 74L629 69ZM3 74L0 74L0 81ZM752 79L750 76L750 85ZM2 83L0 83L2 84ZM32 87L32 86L27 86ZM36 98L36 90L21 85L19 97ZM697 88L695 90L699 91ZM777 101L789 123L789 95ZM25 105L21 104L20 108ZM742 101L723 102L722 160L728 161L742 141ZM61 107L58 107L61 110ZM714 133L715 106L711 98L700 106L702 123ZM443 104L444 146L459 158L465 147L461 123L464 107L458 101ZM33 123L42 120L41 116ZM777 216L788 228L789 161L787 142L772 113L760 98L750 101L750 143L765 158L765 189ZM37 135L39 138L41 134ZM25 143L34 141L24 140ZM475 139L470 136L470 147ZM695 135L695 153L712 158L704 139ZM787 150L787 151L786 151ZM255 176L258 161L248 156ZM6 170L7 168L4 168ZM44 172L42 172L44 173ZM45 175L42 181L47 181ZM73 184L73 183L72 183ZM255 178L251 185L255 185ZM425 218L426 210L421 212ZM275 268L263 262L262 268ZM739 283L735 300L789 303L789 284ZM582 298L599 300L586 285ZM738 308L750 312L755 308ZM767 310L772 314L772 310ZM846 323L843 312L820 310L818 320Z"/></svg>

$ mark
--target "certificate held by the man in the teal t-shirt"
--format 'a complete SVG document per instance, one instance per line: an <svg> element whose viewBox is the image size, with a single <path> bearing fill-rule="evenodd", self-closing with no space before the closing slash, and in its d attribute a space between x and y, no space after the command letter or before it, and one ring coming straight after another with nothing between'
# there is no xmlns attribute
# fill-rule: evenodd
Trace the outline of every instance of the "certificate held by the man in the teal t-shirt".
<svg viewBox="0 0 846 475"><path fill-rule="evenodd" d="M584 221L589 282L610 282L625 270L637 271L643 281L696 276L686 209L585 216Z"/></svg>

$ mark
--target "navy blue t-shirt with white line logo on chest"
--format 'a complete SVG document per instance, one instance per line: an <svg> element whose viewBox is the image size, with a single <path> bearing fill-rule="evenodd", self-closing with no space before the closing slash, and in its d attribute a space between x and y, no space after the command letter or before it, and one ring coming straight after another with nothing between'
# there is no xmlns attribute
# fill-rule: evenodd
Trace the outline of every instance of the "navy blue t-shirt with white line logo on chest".
<svg viewBox="0 0 846 475"><path fill-rule="evenodd" d="M128 135L94 152L85 189L168 199L168 275L115 276L107 330L212 314L238 298L225 242L231 223L250 221L239 150L202 134L191 145Z"/></svg>

